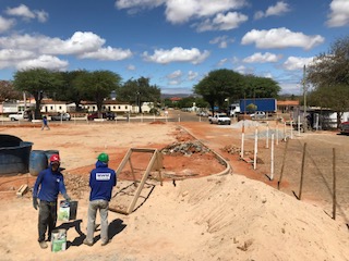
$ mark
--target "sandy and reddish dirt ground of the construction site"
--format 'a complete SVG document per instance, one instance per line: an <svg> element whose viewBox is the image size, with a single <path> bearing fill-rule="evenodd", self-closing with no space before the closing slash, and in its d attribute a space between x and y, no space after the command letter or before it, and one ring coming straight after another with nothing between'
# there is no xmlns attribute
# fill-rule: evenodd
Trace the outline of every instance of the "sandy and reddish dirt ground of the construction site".
<svg viewBox="0 0 349 261"><path fill-rule="evenodd" d="M58 253L41 250L36 240L37 211L32 207L31 192L15 196L21 185L33 187L35 177L1 176L1 260L348 260L348 137L325 132L298 136L282 125L270 122L268 128L266 123L260 123L254 170L252 163L240 160L239 124L57 124L51 130L43 132L33 126L0 126L0 134L34 142L33 150L59 150L68 192L79 201L77 219L58 222L68 229L68 249ZM278 136L273 181L267 177L272 145L266 142L266 132ZM246 122L245 157L253 158L254 133L255 126ZM292 136L286 153L286 142L281 140L285 134ZM299 196L305 142L302 194L298 200L294 195ZM184 152L179 150L182 144L185 144ZM226 173L221 159L203 150L205 147L218 153L232 172ZM95 245L87 247L82 241L86 233L88 173L99 152L109 153L110 166L118 169L130 148L159 151L170 148L163 154L164 185L149 178L134 212L129 215L109 212L111 243L101 247L96 232ZM332 219L333 148L337 174L336 220ZM132 154L136 179L141 179L151 154ZM128 165L118 176L112 206L129 206L136 189L132 179L132 169ZM122 194L125 189L129 191Z"/></svg>

